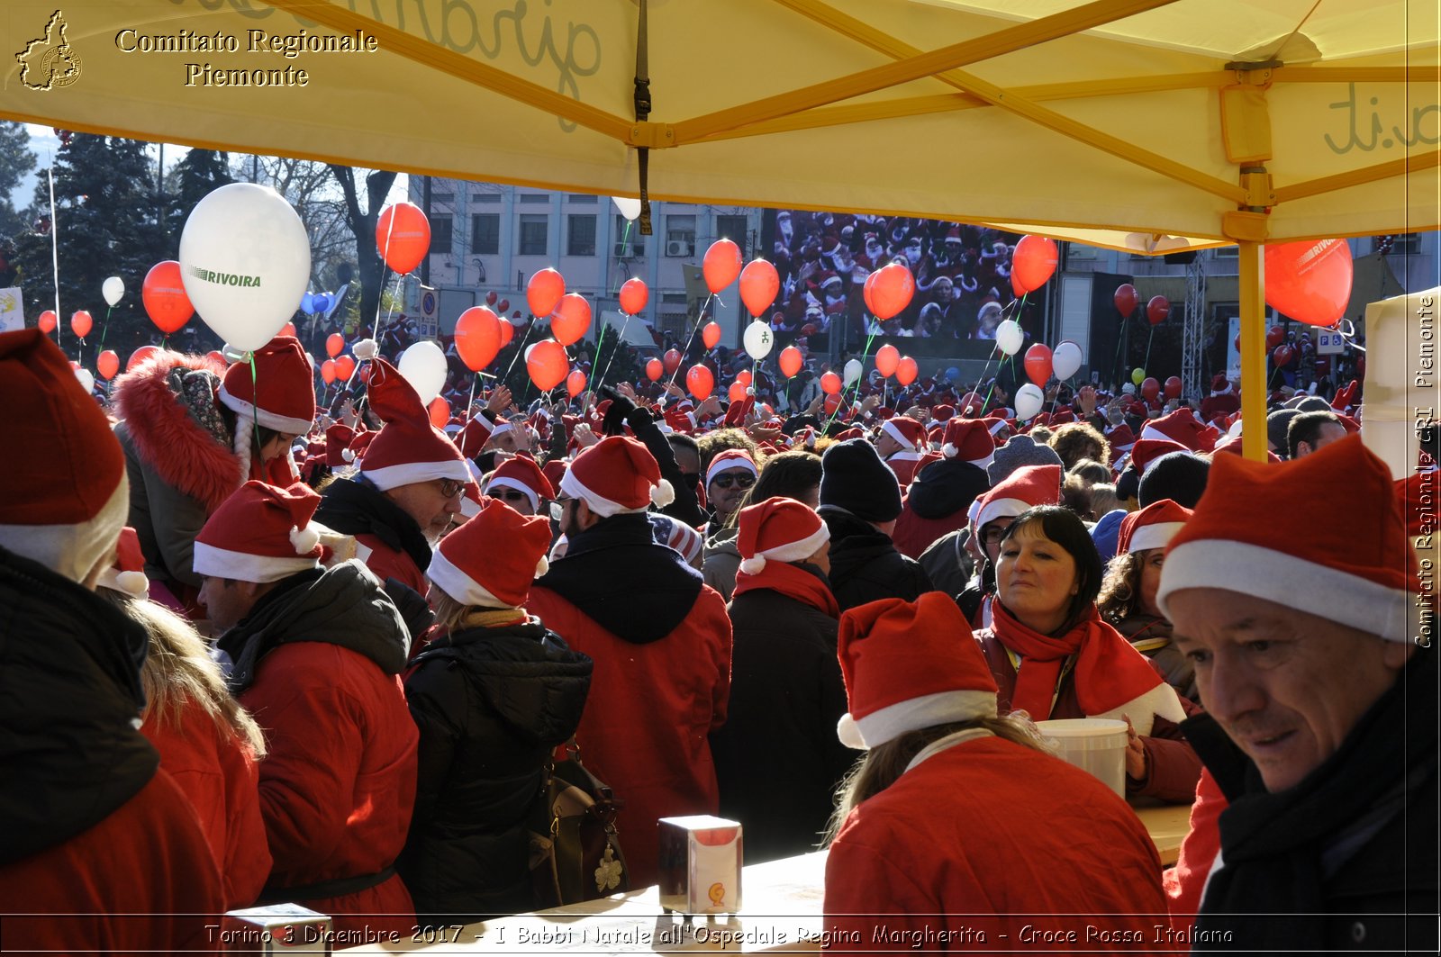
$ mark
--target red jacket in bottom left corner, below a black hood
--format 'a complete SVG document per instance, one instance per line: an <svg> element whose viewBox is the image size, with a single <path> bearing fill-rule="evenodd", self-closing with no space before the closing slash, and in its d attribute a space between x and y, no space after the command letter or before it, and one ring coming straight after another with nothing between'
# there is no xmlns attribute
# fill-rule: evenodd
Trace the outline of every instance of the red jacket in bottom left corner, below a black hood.
<svg viewBox="0 0 1441 957"><path fill-rule="evenodd" d="M225 911L205 833L163 768L89 830L0 866L0 901L6 953L216 951L206 925Z"/></svg>

